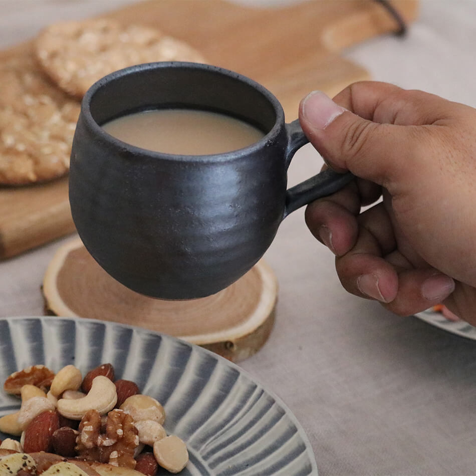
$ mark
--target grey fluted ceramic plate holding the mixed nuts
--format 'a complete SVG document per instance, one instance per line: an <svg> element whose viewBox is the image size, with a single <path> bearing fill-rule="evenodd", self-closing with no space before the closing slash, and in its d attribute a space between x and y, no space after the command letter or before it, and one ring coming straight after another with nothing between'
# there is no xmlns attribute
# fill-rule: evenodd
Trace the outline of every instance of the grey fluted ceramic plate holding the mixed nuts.
<svg viewBox="0 0 476 476"><path fill-rule="evenodd" d="M311 445L286 405L211 352L111 322L0 319L2 382L34 364L56 371L73 363L85 372L106 362L165 406L165 429L186 442L190 455L181 474L317 474ZM0 415L18 407L2 393Z"/></svg>

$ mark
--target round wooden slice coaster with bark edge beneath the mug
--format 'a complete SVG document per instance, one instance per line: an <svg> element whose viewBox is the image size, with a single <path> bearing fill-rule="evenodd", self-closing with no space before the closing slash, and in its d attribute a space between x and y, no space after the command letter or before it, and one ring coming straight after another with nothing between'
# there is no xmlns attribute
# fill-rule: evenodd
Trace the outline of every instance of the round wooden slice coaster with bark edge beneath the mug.
<svg viewBox="0 0 476 476"><path fill-rule="evenodd" d="M268 339L278 283L261 260L241 279L212 296L189 301L149 298L110 277L81 240L75 239L53 257L42 289L49 314L141 326L237 362L253 355Z"/></svg>

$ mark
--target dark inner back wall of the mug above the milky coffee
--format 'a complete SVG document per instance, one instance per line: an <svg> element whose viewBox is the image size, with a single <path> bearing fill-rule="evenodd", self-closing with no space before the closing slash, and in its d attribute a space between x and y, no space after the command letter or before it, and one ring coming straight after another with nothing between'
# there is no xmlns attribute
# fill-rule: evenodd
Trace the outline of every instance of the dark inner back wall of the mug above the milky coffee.
<svg viewBox="0 0 476 476"><path fill-rule="evenodd" d="M279 101L237 73L196 63L150 63L112 73L83 99L96 126L148 109L187 108L227 114L268 134L284 122Z"/></svg>

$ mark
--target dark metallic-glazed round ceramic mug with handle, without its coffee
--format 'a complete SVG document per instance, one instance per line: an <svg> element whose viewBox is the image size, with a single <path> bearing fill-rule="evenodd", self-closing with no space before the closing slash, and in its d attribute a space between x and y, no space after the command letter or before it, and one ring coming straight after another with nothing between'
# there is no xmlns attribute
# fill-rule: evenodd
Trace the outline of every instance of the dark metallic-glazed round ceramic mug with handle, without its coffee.
<svg viewBox="0 0 476 476"><path fill-rule="evenodd" d="M266 135L227 153L172 155L101 127L151 108L227 114ZM290 161L307 142L267 89L232 71L168 62L114 72L81 105L69 175L76 228L99 265L128 288L161 299L209 296L258 262L289 213L353 178L324 171L287 190Z"/></svg>

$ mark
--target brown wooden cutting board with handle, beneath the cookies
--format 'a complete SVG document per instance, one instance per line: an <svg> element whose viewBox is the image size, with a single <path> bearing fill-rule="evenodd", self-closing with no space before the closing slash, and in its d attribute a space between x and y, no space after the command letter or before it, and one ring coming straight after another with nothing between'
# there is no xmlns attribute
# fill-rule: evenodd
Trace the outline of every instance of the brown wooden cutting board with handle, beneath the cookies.
<svg viewBox="0 0 476 476"><path fill-rule="evenodd" d="M415 19L417 0L394 5L407 22ZM210 63L262 83L282 102L288 121L297 117L299 101L309 91L334 95L368 79L364 69L339 53L397 27L388 12L370 0L319 0L275 8L223 0L149 0L105 16L157 27L197 48ZM1 52L0 62L30 47L27 42ZM67 177L0 188L0 259L74 229Z"/></svg>

